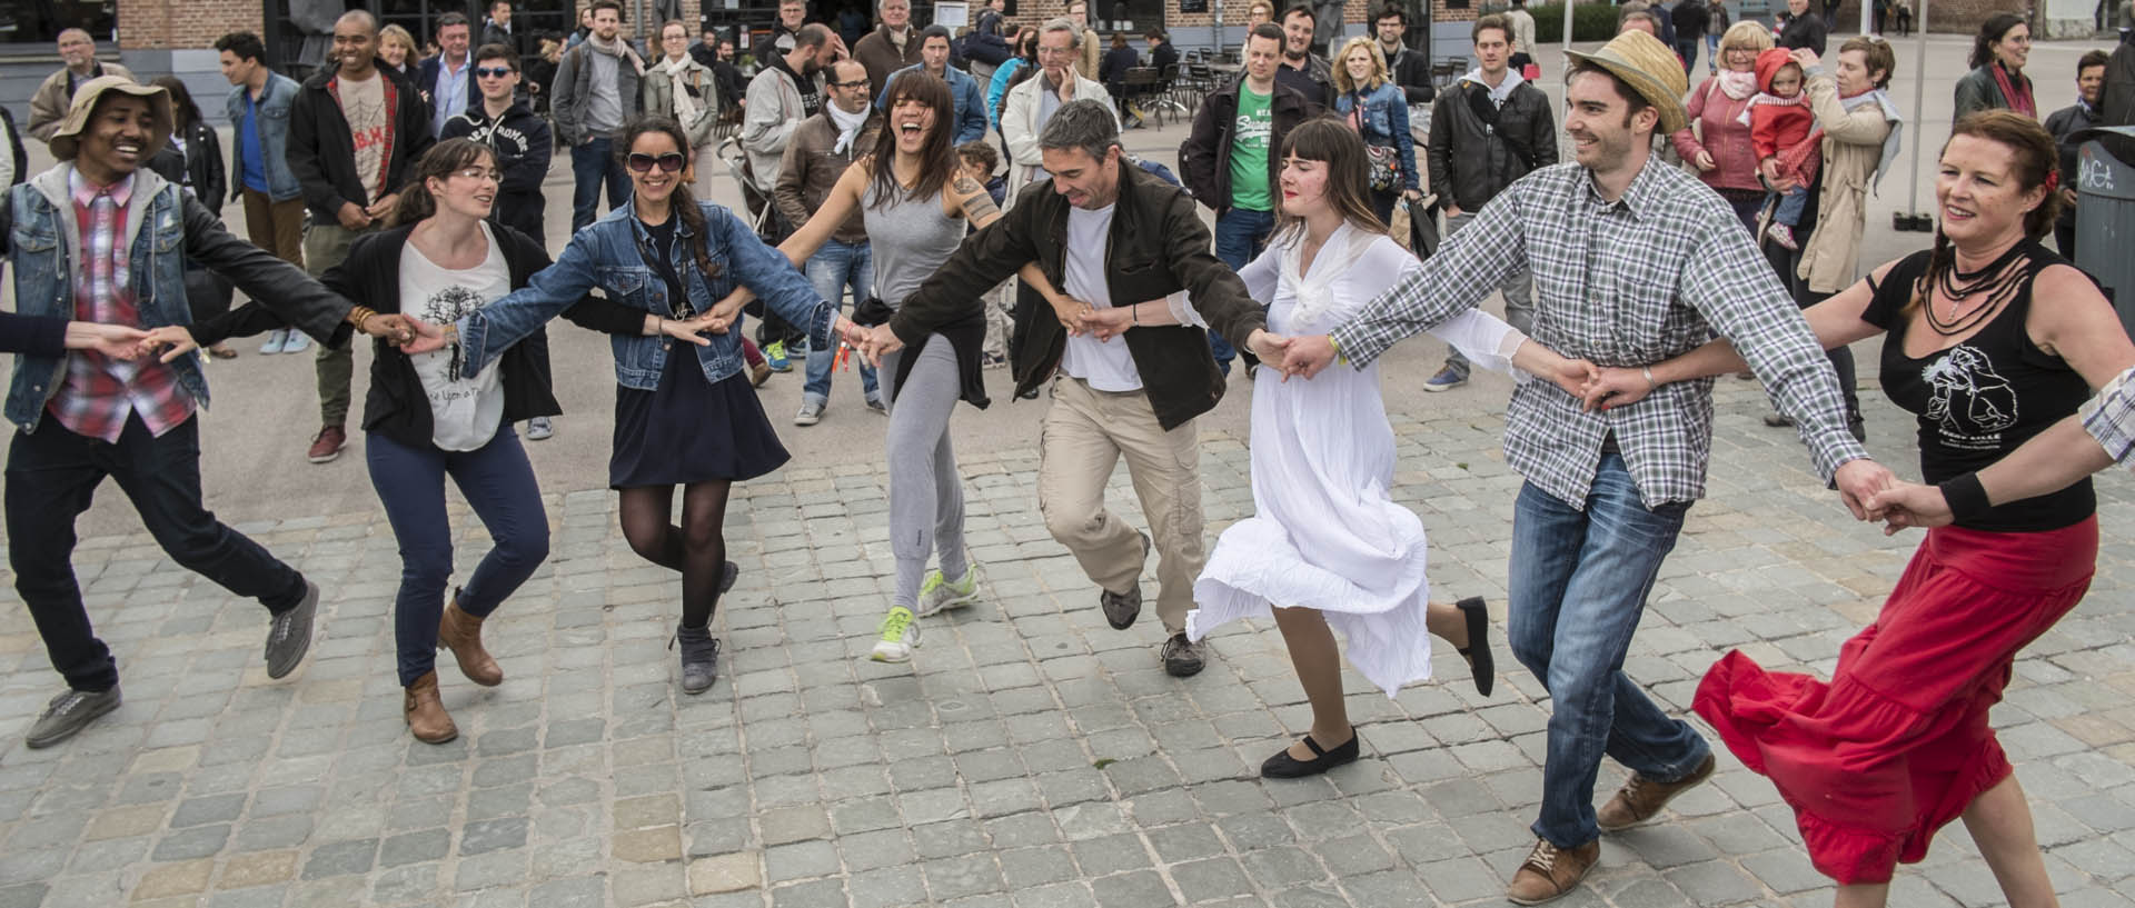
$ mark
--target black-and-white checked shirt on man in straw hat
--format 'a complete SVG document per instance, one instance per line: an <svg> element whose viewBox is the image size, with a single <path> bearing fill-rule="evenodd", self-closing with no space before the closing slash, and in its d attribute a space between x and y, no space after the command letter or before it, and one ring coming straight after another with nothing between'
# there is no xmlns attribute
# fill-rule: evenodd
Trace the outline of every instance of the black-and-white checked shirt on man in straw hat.
<svg viewBox="0 0 2135 908"><path fill-rule="evenodd" d="M1599 196L1580 164L1522 177L1332 339L1349 362L1369 364L1475 307L1520 269L1535 275L1537 343L1635 369L1687 354L1717 330L1796 420L1825 482L1838 465L1868 456L1847 433L1823 347L1734 211L1659 156L1616 202ZM1544 492L1584 507L1610 433L1646 507L1704 497L1712 379L1665 384L1595 414L1550 382L1522 382L1505 416L1505 458Z"/></svg>

